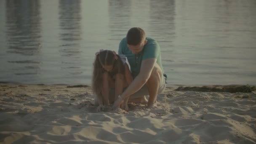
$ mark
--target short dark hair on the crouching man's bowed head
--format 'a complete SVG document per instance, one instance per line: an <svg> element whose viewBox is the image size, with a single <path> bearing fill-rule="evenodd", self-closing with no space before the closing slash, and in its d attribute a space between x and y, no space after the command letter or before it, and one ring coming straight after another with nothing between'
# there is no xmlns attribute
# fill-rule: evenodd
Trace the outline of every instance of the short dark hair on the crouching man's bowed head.
<svg viewBox="0 0 256 144"><path fill-rule="evenodd" d="M126 39L128 45L138 45L145 37L145 32L139 27L133 27L128 30Z"/></svg>

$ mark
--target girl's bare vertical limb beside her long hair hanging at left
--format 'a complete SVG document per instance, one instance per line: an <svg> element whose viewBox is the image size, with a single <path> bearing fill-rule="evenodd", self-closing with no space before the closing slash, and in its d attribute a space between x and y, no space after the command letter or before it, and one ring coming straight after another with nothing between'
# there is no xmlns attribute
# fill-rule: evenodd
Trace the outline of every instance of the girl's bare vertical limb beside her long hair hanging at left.
<svg viewBox="0 0 256 144"><path fill-rule="evenodd" d="M104 105L109 106L109 74L107 72L103 73L101 95L103 97Z"/></svg>

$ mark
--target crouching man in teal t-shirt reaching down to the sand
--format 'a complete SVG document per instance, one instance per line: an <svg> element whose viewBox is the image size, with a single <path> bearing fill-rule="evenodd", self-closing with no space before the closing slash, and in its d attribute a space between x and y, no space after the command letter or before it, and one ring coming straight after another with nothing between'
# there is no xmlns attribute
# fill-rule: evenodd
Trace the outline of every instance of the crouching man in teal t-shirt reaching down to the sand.
<svg viewBox="0 0 256 144"><path fill-rule="evenodd" d="M118 96L113 107L119 107L129 96L130 99L143 99L145 95L149 95L147 107L152 108L157 94L165 90L167 79L157 41L146 37L143 29L133 27L121 40L118 54L124 54L127 57L133 81Z"/></svg>

